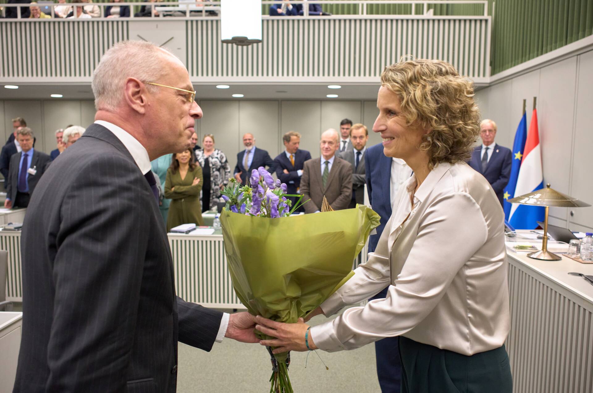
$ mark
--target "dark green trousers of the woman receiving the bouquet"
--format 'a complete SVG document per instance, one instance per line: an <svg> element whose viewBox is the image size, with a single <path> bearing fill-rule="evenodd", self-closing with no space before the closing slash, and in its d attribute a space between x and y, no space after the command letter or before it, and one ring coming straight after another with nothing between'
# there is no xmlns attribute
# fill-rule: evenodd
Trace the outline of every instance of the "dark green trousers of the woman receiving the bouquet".
<svg viewBox="0 0 593 393"><path fill-rule="evenodd" d="M512 393L505 346L461 355L400 336L401 393Z"/></svg>

